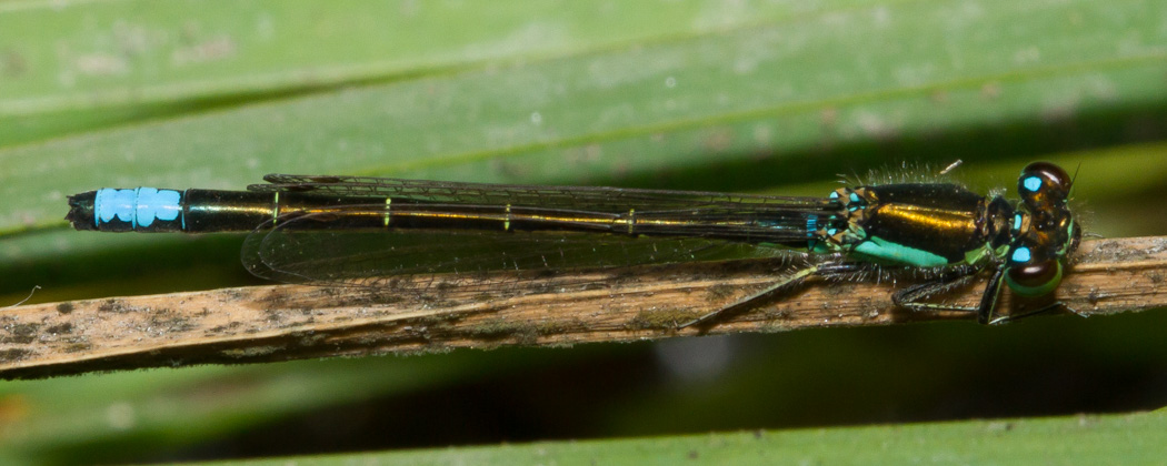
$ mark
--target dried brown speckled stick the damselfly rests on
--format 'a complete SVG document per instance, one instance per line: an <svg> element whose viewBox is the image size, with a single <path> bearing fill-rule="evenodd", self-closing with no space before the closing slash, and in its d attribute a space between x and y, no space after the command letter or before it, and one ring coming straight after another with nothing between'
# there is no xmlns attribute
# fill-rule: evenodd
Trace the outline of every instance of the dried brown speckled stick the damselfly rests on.
<svg viewBox="0 0 1167 466"><path fill-rule="evenodd" d="M715 325L677 329L773 283L777 267L759 260L649 267L566 285L547 277L520 282L505 296L272 285L25 305L0 310L0 377L971 317L897 309L890 283L812 280ZM1165 306L1165 277L1167 236L1088 241L1057 299L1081 316ZM945 298L972 305L983 285ZM1040 304L1004 294L1011 312Z"/></svg>

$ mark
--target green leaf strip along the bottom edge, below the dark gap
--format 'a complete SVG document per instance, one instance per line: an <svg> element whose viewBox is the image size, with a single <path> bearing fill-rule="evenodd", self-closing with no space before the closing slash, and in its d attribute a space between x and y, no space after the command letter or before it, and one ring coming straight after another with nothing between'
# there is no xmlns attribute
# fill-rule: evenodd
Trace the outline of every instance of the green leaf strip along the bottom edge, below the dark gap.
<svg viewBox="0 0 1167 466"><path fill-rule="evenodd" d="M393 453L229 461L230 465L1050 465L1154 464L1162 411L1047 419L874 425L643 439L544 442Z"/></svg>

